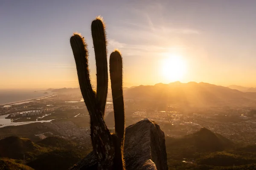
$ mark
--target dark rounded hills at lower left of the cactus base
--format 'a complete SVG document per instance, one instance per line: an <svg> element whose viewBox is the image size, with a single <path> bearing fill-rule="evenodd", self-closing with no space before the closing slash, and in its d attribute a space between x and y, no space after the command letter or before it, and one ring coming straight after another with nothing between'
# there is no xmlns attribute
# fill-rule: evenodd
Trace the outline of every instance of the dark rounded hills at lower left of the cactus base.
<svg viewBox="0 0 256 170"><path fill-rule="evenodd" d="M48 137L35 144L10 136L0 140L0 170L67 170L90 152L90 146L78 146L61 137Z"/></svg>

